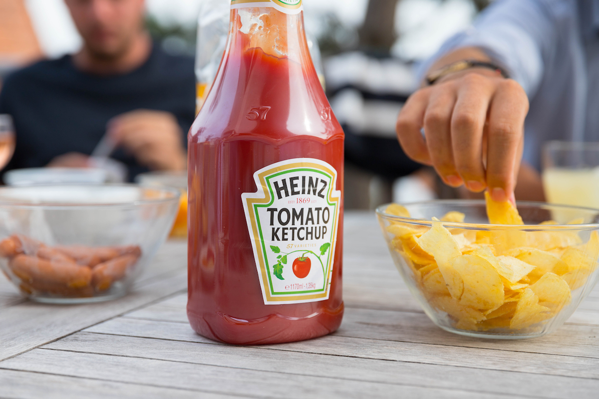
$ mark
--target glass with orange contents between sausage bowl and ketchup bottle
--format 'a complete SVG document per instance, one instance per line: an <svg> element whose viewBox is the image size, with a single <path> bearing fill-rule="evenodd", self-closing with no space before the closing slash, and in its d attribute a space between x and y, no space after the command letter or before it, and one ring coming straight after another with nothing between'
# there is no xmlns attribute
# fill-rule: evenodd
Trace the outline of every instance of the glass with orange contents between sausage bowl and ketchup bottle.
<svg viewBox="0 0 599 399"><path fill-rule="evenodd" d="M179 213L171 230L171 237L187 237L187 170L180 172L148 172L135 178L141 185L173 187L181 190Z"/></svg>

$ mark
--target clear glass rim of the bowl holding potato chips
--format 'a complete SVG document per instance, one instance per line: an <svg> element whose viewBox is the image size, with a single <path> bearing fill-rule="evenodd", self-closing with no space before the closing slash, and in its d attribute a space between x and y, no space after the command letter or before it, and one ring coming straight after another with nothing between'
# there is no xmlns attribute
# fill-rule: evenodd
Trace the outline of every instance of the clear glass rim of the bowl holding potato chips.
<svg viewBox="0 0 599 399"><path fill-rule="evenodd" d="M420 226L432 226L431 220L424 220L418 218L407 218L403 216L397 216L387 214L385 209L392 203L386 203L376 208L375 212L380 217L386 219L393 219L397 221L403 221L410 224L418 224ZM397 203L401 206L416 206L416 205L482 205L486 206L485 200L483 199L443 199L443 200L429 200L429 201L417 201L409 203ZM541 208L541 206L547 206L548 208L559 208L564 210L579 210L586 212L594 212L599 215L599 209L585 208L583 206L553 204L541 201L516 201L516 206L532 206L534 208ZM441 217L443 215L439 215ZM524 230L527 232L539 232L539 231L568 231L568 230L599 230L598 223L581 223L581 224L488 224L488 223L465 223L465 222L446 222L442 221L444 227L456 227L458 229L470 229L470 230L497 230L509 227L509 230Z"/></svg>

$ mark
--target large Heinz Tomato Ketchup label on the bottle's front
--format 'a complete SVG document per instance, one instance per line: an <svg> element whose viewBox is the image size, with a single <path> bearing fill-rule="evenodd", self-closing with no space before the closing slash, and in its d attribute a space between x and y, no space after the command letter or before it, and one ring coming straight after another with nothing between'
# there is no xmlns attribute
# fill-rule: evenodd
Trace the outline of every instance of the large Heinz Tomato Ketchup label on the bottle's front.
<svg viewBox="0 0 599 399"><path fill-rule="evenodd" d="M337 170L312 158L273 163L243 193L265 304L328 299L337 241Z"/></svg>

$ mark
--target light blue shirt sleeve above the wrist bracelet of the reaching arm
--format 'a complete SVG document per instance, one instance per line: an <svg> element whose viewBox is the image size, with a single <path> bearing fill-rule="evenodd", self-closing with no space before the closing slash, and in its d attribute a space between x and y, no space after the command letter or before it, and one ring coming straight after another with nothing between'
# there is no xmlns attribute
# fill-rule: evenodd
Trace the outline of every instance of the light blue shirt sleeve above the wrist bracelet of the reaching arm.
<svg viewBox="0 0 599 399"><path fill-rule="evenodd" d="M544 62L555 48L558 23L555 8L564 1L497 0L477 17L474 25L445 42L420 68L425 74L434 60L459 47L479 47L507 69L514 80L534 96Z"/></svg>

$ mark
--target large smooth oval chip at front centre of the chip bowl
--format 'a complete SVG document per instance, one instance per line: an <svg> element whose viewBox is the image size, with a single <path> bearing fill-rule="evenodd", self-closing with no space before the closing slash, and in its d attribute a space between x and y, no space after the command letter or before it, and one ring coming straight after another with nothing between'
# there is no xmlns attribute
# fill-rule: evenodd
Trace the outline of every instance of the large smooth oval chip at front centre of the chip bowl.
<svg viewBox="0 0 599 399"><path fill-rule="evenodd" d="M460 304L492 309L503 303L503 282L489 261L476 255L461 255L453 258L451 266L464 281Z"/></svg>

